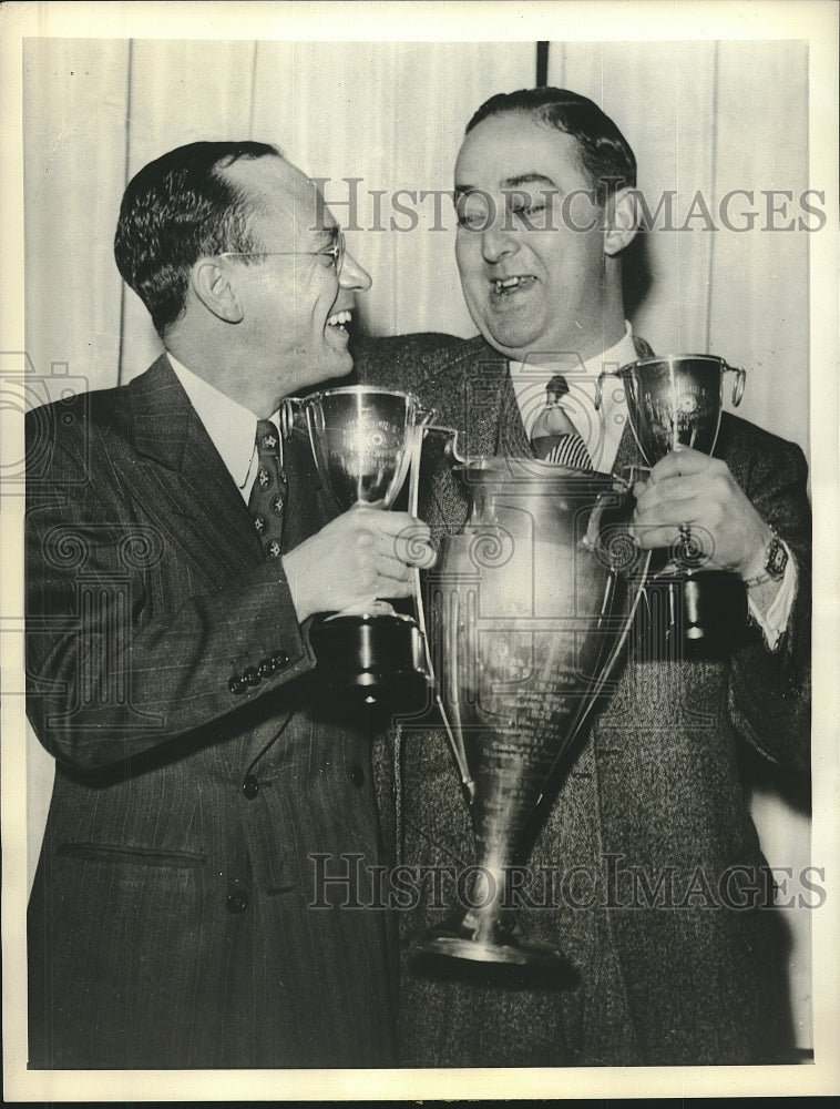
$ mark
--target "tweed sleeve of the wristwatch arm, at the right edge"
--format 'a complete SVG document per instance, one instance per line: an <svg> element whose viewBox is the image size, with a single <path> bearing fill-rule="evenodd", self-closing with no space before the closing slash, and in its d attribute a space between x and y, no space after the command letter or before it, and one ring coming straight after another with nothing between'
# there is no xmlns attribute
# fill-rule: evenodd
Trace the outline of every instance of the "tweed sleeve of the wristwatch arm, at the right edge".
<svg viewBox="0 0 840 1109"><path fill-rule="evenodd" d="M737 434L737 433L736 433ZM807 465L799 447L760 433L736 480L788 543L797 562L797 591L785 635L775 651L764 642L733 660L728 708L741 735L765 757L805 770L810 759L811 510Z"/></svg>

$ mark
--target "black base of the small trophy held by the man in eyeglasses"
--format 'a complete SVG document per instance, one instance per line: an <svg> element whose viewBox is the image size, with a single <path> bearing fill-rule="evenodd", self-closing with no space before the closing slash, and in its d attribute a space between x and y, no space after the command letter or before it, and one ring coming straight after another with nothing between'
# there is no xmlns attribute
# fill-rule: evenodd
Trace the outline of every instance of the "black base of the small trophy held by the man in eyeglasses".
<svg viewBox="0 0 840 1109"><path fill-rule="evenodd" d="M420 629L400 613L316 620L309 642L317 679L332 693L367 704L424 703L430 679Z"/></svg>

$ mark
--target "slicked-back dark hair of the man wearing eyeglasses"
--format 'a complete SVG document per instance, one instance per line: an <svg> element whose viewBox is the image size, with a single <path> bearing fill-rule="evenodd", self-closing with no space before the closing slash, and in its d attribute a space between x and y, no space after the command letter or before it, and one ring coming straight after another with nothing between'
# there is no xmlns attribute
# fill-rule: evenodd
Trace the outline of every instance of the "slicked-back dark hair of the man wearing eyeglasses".
<svg viewBox="0 0 840 1109"><path fill-rule="evenodd" d="M189 269L203 254L257 247L248 199L218 171L268 156L283 155L260 142L194 142L150 162L129 182L114 257L162 338L184 311Z"/></svg>

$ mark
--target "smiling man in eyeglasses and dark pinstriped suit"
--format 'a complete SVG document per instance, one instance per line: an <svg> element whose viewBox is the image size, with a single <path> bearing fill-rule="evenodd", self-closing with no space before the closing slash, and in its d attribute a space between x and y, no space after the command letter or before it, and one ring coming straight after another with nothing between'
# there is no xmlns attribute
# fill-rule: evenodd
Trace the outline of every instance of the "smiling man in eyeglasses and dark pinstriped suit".
<svg viewBox="0 0 840 1109"><path fill-rule="evenodd" d="M30 414L28 706L57 760L32 1068L391 1062L370 724L313 681L308 625L408 596L413 521L336 516L280 435L286 397L351 369L370 285L319 201L253 142L145 166L115 255L165 354ZM316 889L313 855L358 884Z"/></svg>

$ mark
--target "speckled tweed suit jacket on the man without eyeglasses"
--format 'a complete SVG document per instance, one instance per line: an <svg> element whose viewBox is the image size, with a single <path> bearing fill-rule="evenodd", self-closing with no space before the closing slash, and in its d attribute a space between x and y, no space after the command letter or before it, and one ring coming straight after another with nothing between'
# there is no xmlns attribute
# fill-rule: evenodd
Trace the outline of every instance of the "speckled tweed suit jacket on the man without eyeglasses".
<svg viewBox="0 0 840 1109"><path fill-rule="evenodd" d="M651 354L644 344L637 349ZM355 354L361 380L410 389L437 409L438 423L461 429L462 454L530 452L506 360L483 339L359 339ZM566 981L525 988L511 988L510 980L504 988L491 985L480 964L459 967L447 980L423 976L409 966L411 944L447 915L440 896L428 893L401 918L403 1062L632 1066L786 1058L785 928L768 907L772 897L740 765L752 750L807 774L806 465L795 445L728 414L716 455L795 552L798 591L782 647L770 652L757 637L715 661L629 658L543 805L530 856L530 873L551 872L556 885L551 896L545 883L537 886L522 923L530 937L559 946L572 973ZM627 430L615 468L634 461L642 459ZM439 532L457 529L467 518L463 490L442 457L428 454L423 467L421 517ZM444 734L407 721L400 745L403 863L469 865L468 808Z"/></svg>

